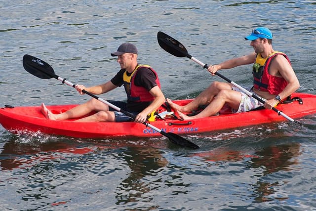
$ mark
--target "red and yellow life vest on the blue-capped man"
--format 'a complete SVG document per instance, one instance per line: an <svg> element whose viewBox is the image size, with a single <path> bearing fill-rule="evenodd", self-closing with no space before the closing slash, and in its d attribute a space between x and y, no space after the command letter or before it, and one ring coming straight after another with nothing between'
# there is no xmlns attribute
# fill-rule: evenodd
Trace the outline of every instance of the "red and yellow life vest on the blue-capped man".
<svg viewBox="0 0 316 211"><path fill-rule="evenodd" d="M267 58L262 58L257 54L253 65L253 87L261 91L268 91L270 94L279 94L288 84L282 77L276 77L269 74L270 63L276 55L283 55L291 64L286 54L282 52L274 52Z"/></svg>

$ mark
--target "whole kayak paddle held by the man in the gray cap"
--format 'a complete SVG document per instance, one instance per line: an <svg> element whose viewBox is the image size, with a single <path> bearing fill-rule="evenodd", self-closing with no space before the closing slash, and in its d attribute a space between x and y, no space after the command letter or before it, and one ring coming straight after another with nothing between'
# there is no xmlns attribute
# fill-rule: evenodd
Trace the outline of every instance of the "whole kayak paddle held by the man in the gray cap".
<svg viewBox="0 0 316 211"><path fill-rule="evenodd" d="M75 87L75 84L72 84L69 81L67 81L66 79L63 79L63 78L55 75L53 68L48 63L46 63L43 60L40 60L34 56L25 54L23 56L23 67L27 72L31 73L32 75L34 75L40 79L55 78L55 79L61 81L63 84L67 84L67 85L70 85L72 87ZM122 112L123 114L125 114L133 119L136 118L136 116L134 114L131 114L127 111L124 111L124 110L118 108L117 106L111 104L110 102L108 102L108 101L106 101L106 100L104 100L104 99L84 90L84 89L82 90L82 92L90 95L91 97L107 104L111 108L113 108L119 112ZM172 142L174 144L177 144L181 147L188 147L188 148L193 148L193 149L199 148L196 144L192 143L191 141L189 141L189 140L187 140L187 139L185 139L185 138L183 138L175 133L165 132L165 131L163 131L155 126L152 126L151 124L149 124L147 122L145 122L143 124L146 127L150 127L152 129L156 130L157 132L159 132L161 135L167 137L170 140L170 142Z"/></svg>

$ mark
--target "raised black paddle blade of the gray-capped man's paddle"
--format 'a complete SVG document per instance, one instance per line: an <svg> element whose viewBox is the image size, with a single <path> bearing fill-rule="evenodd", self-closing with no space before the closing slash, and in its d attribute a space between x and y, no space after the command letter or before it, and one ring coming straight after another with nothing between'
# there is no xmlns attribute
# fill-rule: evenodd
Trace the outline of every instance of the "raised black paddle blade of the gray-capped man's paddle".
<svg viewBox="0 0 316 211"><path fill-rule="evenodd" d="M51 79L55 75L49 64L28 54L23 56L23 67L27 72L40 79Z"/></svg>

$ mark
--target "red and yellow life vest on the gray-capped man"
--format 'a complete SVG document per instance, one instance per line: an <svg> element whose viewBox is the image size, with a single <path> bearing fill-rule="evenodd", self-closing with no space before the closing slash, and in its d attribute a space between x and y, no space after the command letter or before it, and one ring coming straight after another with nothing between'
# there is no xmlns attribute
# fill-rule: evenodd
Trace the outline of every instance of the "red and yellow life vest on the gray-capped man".
<svg viewBox="0 0 316 211"><path fill-rule="evenodd" d="M156 71L149 65L137 65L135 70L131 73L130 76L127 76L127 71L125 71L123 74L124 88L125 88L128 100L131 100L134 102L150 102L155 99L154 96L151 95L151 93L149 93L149 91L146 90L145 87L135 85L134 80L135 80L137 71L143 67L148 68L151 71L153 71L153 73L156 76L156 83L158 84L160 88L160 82L159 82Z"/></svg>

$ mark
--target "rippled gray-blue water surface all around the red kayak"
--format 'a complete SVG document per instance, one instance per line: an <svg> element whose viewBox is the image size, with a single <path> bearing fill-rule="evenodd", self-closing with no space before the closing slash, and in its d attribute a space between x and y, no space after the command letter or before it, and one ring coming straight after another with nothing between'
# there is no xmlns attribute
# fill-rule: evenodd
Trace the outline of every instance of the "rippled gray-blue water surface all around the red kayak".
<svg viewBox="0 0 316 211"><path fill-rule="evenodd" d="M14 0L0 3L1 106L82 103L75 89L23 70L24 54L86 86L110 80L122 42L159 74L172 99L192 98L218 77L162 50L162 31L208 64L252 52L243 38L266 26L287 53L301 87L316 94L313 0ZM242 86L251 66L223 70ZM124 99L123 89L101 97ZM184 136L181 149L158 138L75 139L13 135L0 127L1 210L316 210L316 116ZM216 123L214 123L216 124Z"/></svg>

